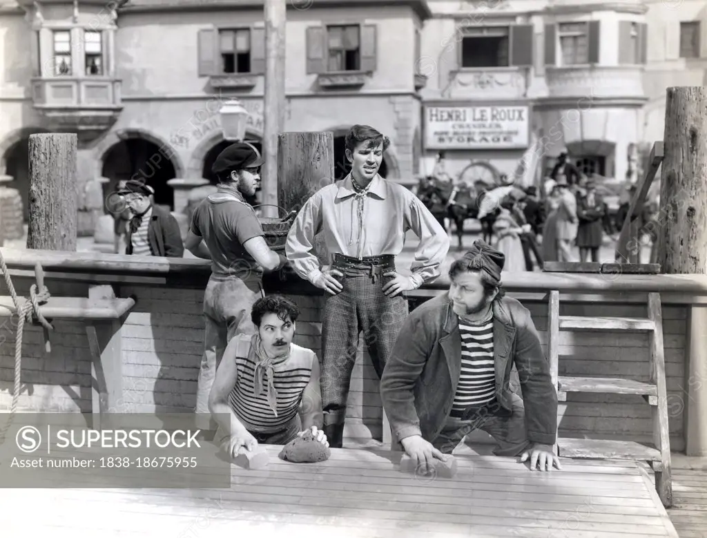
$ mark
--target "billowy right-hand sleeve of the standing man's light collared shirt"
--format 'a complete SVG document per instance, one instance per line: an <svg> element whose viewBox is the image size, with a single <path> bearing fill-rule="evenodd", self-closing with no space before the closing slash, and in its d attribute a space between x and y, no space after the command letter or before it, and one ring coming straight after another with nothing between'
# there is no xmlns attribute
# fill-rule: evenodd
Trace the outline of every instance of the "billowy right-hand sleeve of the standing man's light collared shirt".
<svg viewBox="0 0 707 538"><path fill-rule="evenodd" d="M405 223L420 239L410 266L412 274L419 276L423 282L436 279L449 252L447 232L416 197L410 197L406 204Z"/></svg>

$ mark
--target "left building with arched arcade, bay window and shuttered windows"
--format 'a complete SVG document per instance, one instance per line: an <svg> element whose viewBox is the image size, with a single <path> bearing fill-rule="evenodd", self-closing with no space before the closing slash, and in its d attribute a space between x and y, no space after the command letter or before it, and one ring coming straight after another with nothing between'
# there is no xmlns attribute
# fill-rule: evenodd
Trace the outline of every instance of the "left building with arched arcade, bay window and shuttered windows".
<svg viewBox="0 0 707 538"><path fill-rule="evenodd" d="M265 29L261 1L19 0L0 12L0 173L26 199L27 139L78 132L79 192L107 178L145 177L173 206L173 178L211 179L227 144L219 110L238 98L247 139L263 131ZM333 131L335 175L346 173L344 135L371 124L391 139L382 165L410 179L419 153L414 40L430 15L421 0L288 2L286 131ZM2 61L0 59L0 61ZM417 138L416 138L417 137ZM79 204L81 205L81 204Z"/></svg>

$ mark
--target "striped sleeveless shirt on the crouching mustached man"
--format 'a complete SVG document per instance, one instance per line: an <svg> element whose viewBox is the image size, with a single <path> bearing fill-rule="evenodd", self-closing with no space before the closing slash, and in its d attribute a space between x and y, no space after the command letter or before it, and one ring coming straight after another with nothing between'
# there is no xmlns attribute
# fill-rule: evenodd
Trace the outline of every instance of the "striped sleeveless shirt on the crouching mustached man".
<svg viewBox="0 0 707 538"><path fill-rule="evenodd" d="M274 385L277 391L277 416L267 402L267 375L262 394L255 394L255 365L257 356L250 334L237 337L236 366L238 379L228 396L228 404L248 431L274 433L281 431L298 413L302 392L312 375L312 361L317 355L311 349L290 344L286 361L274 363Z"/></svg>

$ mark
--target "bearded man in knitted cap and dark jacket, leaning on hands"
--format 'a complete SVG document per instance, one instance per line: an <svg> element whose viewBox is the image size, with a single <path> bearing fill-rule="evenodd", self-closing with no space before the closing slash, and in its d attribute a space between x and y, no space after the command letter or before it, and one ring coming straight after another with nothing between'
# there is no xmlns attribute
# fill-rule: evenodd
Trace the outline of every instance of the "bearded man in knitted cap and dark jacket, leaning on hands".
<svg viewBox="0 0 707 538"><path fill-rule="evenodd" d="M553 446L557 393L530 312L504 296L505 257L477 240L450 267L448 293L414 310L380 380L383 409L418 465L445 460L480 428L494 454L530 458L530 468L560 469ZM515 364L522 399L510 390Z"/></svg>

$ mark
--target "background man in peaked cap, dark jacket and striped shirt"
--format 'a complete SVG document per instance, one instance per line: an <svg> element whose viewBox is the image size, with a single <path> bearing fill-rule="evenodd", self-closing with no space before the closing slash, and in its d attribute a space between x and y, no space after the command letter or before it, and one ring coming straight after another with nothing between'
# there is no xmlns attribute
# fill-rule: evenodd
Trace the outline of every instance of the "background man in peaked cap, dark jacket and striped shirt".
<svg viewBox="0 0 707 538"><path fill-rule="evenodd" d="M152 187L138 180L128 180L118 194L124 197L133 215L127 224L125 254L169 258L184 255L177 219L169 211L152 204L155 194Z"/></svg>

